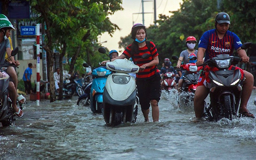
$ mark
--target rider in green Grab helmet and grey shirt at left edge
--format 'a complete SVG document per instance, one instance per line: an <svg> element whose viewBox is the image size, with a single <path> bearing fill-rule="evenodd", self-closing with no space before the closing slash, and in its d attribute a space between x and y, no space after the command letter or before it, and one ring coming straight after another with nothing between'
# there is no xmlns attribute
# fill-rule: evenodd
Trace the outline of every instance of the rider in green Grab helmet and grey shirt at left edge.
<svg viewBox="0 0 256 160"><path fill-rule="evenodd" d="M11 22L6 19L6 18L0 18L0 65L4 65L5 63L5 54L7 53L7 55L11 55L11 46L10 46L10 41L9 39L5 36L7 30L12 30L15 29ZM10 57L10 60L12 63L14 63L16 66L18 66L20 63L18 63L18 61L14 60L14 57ZM8 72L6 72L8 73ZM10 74L10 77L15 77L12 76L12 74L14 74L13 72L9 72L8 74ZM15 72L16 74L16 72ZM17 75L16 75L17 76ZM17 100L17 90L16 87L14 85L14 83L12 81L9 81L9 86L8 86L8 90L9 90L9 94L10 94L10 98L12 101L12 109L16 114L17 118L21 118L23 116L23 111L17 107L16 105L16 100Z"/></svg>

